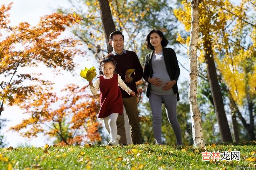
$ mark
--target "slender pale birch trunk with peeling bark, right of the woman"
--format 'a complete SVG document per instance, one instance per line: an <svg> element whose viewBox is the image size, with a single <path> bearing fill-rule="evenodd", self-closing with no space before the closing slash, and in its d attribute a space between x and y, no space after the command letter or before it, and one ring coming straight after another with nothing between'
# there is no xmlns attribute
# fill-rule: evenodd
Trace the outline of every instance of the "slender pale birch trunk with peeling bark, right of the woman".
<svg viewBox="0 0 256 170"><path fill-rule="evenodd" d="M198 30L199 30L199 14L198 14L198 0L191 0L191 32L190 32L190 43L189 43L189 104L190 104L190 115L192 121L192 133L194 147L202 148L205 146L204 137L202 132L202 121L201 115L197 102L197 43L198 43Z"/></svg>

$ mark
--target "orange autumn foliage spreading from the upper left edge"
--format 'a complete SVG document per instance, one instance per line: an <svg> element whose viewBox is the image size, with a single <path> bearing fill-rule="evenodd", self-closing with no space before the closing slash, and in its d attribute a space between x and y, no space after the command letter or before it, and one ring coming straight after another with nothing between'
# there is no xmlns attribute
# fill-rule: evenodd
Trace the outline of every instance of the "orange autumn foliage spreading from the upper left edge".
<svg viewBox="0 0 256 170"><path fill-rule="evenodd" d="M12 4L0 8L0 114L4 104L12 106L29 99L36 86L50 86L32 67L73 71L73 58L82 53L75 48L79 41L70 37L60 38L66 28L80 21L77 15L51 14L43 16L38 25L22 22L10 26L8 11ZM31 67L31 74L20 73L21 68Z"/></svg>

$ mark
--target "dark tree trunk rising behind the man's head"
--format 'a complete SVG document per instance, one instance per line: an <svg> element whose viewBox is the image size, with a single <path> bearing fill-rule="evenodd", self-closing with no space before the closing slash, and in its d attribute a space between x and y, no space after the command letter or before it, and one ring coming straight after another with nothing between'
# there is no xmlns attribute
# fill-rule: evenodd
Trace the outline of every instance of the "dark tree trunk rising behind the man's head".
<svg viewBox="0 0 256 170"><path fill-rule="evenodd" d="M102 19L102 25L104 28L108 53L111 53L113 51L113 48L109 44L109 35L113 31L116 31L116 26L112 19L111 10L110 10L108 0L99 0L99 4L100 4L100 15L101 15L101 19Z"/></svg>

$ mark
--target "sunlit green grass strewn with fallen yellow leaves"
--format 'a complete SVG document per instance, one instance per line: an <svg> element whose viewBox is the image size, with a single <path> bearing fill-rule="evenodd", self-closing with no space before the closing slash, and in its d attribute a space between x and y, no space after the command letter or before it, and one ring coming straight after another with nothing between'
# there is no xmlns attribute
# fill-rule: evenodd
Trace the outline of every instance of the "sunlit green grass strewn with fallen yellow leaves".
<svg viewBox="0 0 256 170"><path fill-rule="evenodd" d="M203 161L204 150L212 152L240 151L240 161ZM256 169L256 141L248 143L206 145L205 149L192 146L127 145L83 147L24 147L0 149L0 169Z"/></svg>

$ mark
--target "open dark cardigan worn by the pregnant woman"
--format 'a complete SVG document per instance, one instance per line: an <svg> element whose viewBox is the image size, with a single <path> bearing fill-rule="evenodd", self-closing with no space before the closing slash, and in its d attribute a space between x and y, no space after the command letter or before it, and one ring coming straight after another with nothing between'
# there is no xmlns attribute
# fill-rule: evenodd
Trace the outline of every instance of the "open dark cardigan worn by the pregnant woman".
<svg viewBox="0 0 256 170"><path fill-rule="evenodd" d="M148 82L148 78L152 78L153 75L153 68L152 68L152 56L154 51L148 53L145 57L145 67L144 67L144 75L143 78ZM179 92L178 92L178 86L177 81L180 76L180 68L178 65L178 60L176 57L176 53L171 48L163 48L163 55L164 55L164 63L166 65L166 69L168 72L168 75L170 76L170 80L176 80L176 83L172 87L174 94L177 94L177 101L180 100ZM151 84L148 83L147 88L147 97L150 96L150 89Z"/></svg>

